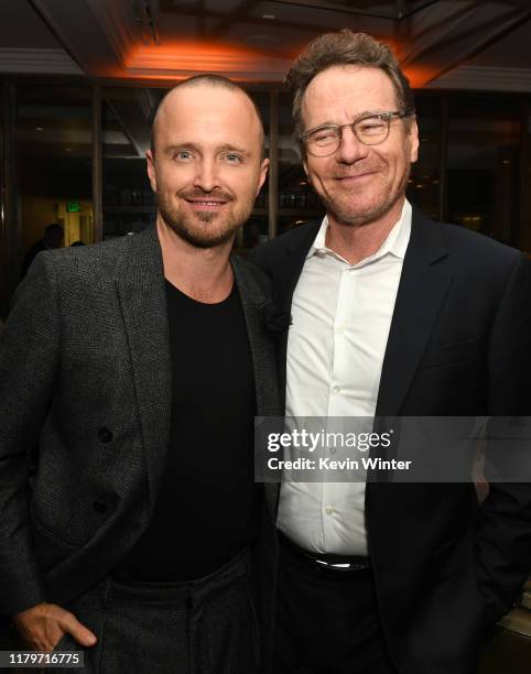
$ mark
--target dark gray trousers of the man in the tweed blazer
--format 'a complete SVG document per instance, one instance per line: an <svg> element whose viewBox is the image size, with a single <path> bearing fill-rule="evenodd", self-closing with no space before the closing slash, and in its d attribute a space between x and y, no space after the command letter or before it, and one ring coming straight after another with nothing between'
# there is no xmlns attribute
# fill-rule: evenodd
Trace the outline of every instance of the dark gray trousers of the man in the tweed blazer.
<svg viewBox="0 0 531 674"><path fill-rule="evenodd" d="M72 672L252 674L259 644L249 557L246 551L193 583L108 577L66 607L98 643L83 649L66 634L55 650L84 652L85 667Z"/></svg>

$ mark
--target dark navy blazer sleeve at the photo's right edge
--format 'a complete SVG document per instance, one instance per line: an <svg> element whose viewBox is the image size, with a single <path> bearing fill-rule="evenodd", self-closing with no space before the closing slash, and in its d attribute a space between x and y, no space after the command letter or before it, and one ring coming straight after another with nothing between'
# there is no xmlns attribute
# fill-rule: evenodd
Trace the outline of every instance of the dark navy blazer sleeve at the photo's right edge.
<svg viewBox="0 0 531 674"><path fill-rule="evenodd" d="M478 580L495 621L512 608L531 573L531 444L507 442L516 416L524 417L517 425L523 423L528 437L531 422L531 262L524 256L512 267L492 325L488 391L487 481L489 471L514 480L511 453L527 466L522 481L489 481L476 522Z"/></svg>

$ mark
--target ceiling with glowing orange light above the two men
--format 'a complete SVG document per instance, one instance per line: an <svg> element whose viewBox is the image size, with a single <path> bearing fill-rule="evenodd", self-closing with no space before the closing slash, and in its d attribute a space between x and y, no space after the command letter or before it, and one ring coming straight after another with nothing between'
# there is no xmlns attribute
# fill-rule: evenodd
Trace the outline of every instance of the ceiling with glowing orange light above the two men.
<svg viewBox="0 0 531 674"><path fill-rule="evenodd" d="M0 72L278 84L340 28L391 43L414 87L531 91L529 0L2 0Z"/></svg>

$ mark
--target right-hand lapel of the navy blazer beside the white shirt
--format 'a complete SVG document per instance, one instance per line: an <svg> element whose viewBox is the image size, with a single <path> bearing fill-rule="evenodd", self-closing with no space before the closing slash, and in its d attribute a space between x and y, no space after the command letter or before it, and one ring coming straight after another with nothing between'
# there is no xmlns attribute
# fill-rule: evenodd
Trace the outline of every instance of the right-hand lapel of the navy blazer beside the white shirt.
<svg viewBox="0 0 531 674"><path fill-rule="evenodd" d="M413 209L376 407L398 416L452 282L447 250L435 222Z"/></svg>

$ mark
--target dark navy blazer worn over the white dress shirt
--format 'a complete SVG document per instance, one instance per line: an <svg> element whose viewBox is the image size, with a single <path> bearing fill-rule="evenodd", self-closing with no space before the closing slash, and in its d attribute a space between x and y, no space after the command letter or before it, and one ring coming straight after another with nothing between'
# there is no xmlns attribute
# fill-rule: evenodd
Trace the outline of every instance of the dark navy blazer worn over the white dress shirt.
<svg viewBox="0 0 531 674"><path fill-rule="evenodd" d="M321 221L251 260L289 312ZM280 345L285 384L288 335ZM531 416L531 262L519 251L413 209L377 415ZM354 377L355 374L353 374ZM382 627L397 667L470 671L485 628L511 609L531 570L531 487L380 483L366 521Z"/></svg>

